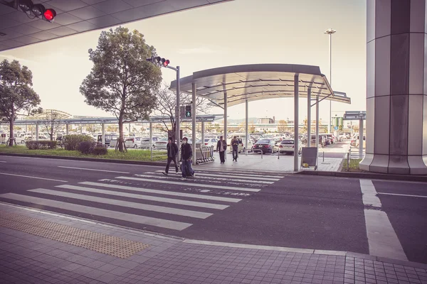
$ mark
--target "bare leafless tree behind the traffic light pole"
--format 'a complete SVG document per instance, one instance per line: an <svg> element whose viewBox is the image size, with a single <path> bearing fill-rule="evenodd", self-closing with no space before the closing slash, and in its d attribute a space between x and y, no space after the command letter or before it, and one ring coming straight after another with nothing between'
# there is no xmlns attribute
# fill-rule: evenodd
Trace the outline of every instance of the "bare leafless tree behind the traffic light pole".
<svg viewBox="0 0 427 284"><path fill-rule="evenodd" d="M192 95L187 93L181 93L181 103L182 104L191 104ZM211 106L207 104L208 100L200 97L196 97L196 111L192 111L192 114L206 114ZM154 114L158 116L165 116L165 119L162 119L162 131L172 132L172 139L176 139L176 117L175 117L175 108L176 108L176 92L169 89L169 85L164 84L159 92L157 93L157 107L154 111ZM183 124L185 125L185 124ZM184 129L182 127L181 129Z"/></svg>

